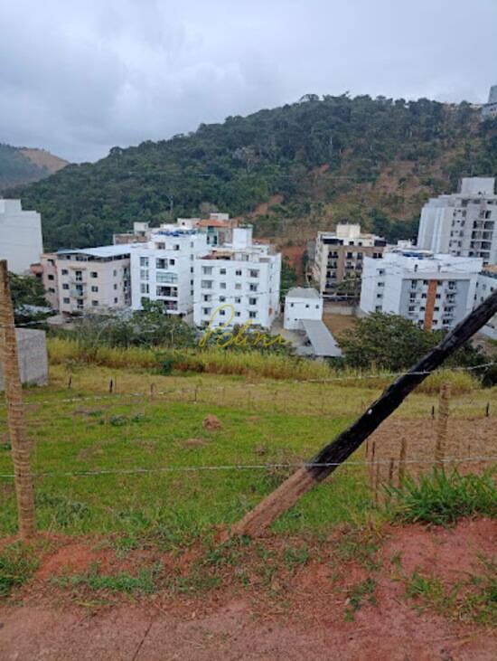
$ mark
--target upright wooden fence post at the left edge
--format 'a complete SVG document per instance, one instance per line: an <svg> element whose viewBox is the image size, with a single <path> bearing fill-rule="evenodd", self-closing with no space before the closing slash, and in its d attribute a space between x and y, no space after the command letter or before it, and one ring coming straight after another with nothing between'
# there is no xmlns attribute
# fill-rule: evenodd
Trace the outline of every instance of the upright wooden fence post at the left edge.
<svg viewBox="0 0 497 661"><path fill-rule="evenodd" d="M30 468L30 447L26 438L23 389L19 376L14 308L10 295L6 260L0 260L0 337L4 368L7 424L14 463L15 496L19 533L23 539L36 533L34 491Z"/></svg>

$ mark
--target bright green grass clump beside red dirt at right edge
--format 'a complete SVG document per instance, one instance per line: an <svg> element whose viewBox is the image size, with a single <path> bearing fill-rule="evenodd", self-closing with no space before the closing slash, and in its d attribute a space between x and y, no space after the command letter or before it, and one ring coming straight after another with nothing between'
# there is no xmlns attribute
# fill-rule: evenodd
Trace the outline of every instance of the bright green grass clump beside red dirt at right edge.
<svg viewBox="0 0 497 661"><path fill-rule="evenodd" d="M418 481L406 479L390 488L395 517L405 523L455 524L464 516L497 516L495 469L483 475L460 475L434 470Z"/></svg>

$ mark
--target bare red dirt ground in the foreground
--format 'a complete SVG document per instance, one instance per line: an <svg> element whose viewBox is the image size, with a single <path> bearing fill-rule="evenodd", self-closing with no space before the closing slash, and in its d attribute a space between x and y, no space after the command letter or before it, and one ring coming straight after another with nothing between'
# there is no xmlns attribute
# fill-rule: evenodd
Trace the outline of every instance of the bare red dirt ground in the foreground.
<svg viewBox="0 0 497 661"><path fill-rule="evenodd" d="M347 590L371 575L356 562L333 578L339 538L325 541L271 590L223 581L220 588L173 596L116 598L98 608L101 595L79 600L47 581L63 571L84 571L98 560L106 571L132 571L147 553L122 561L112 549L86 541L53 541L54 548L30 583L0 605L2 661L166 661L167 659L353 659L363 661L493 661L497 635L489 628L450 621L414 608L392 557L402 571L434 573L447 584L475 570L480 553L492 556L497 522L464 521L454 529L387 527L380 550L376 604L364 603L355 621L344 619ZM285 541L263 542L277 548ZM156 552L155 552L156 553ZM181 564L192 562L192 552ZM152 554L153 555L153 554ZM148 560L152 559L148 555ZM318 557L319 556L319 557ZM164 558L172 565L171 558ZM335 565L336 567L336 565ZM244 565L244 568L247 568ZM231 572L236 571L230 567ZM248 564L248 571L250 567ZM398 570L397 570L398 571ZM86 606L81 606L86 599Z"/></svg>

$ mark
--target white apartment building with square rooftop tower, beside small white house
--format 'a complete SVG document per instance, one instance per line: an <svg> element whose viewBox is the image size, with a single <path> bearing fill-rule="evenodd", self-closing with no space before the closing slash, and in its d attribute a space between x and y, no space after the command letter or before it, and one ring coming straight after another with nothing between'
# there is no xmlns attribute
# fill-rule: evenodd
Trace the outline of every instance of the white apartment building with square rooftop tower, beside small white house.
<svg viewBox="0 0 497 661"><path fill-rule="evenodd" d="M233 241L195 260L193 320L269 328L279 307L281 254L252 241L252 228L233 229Z"/></svg>

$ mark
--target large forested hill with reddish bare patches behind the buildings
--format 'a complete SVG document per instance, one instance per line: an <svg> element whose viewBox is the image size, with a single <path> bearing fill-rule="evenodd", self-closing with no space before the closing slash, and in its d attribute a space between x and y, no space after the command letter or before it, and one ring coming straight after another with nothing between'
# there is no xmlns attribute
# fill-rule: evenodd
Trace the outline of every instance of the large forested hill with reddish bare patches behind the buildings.
<svg viewBox="0 0 497 661"><path fill-rule="evenodd" d="M113 148L95 164L17 190L42 212L53 249L111 241L136 220L219 209L261 237L291 245L337 221L389 239L416 231L429 195L463 175L497 174L497 121L469 104L307 95L299 102L201 125L189 135Z"/></svg>

